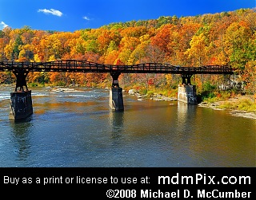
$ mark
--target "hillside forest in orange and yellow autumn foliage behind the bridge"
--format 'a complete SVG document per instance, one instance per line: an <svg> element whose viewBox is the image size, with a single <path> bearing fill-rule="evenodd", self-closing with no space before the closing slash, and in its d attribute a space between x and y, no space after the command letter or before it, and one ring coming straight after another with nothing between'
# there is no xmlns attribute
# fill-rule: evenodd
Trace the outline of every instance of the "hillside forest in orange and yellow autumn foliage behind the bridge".
<svg viewBox="0 0 256 200"><path fill-rule="evenodd" d="M155 20L113 23L74 33L6 27L0 31L0 61L54 61L83 59L102 64L132 65L162 62L171 65L231 65L254 92L256 77L256 10L234 10L194 17L160 17ZM166 87L179 82L171 75L122 74L123 86ZM222 76L195 76L198 87ZM94 86L110 82L109 74L29 73L28 82L71 83ZM11 73L0 73L0 82L14 81ZM175 83L175 84L176 84Z"/></svg>

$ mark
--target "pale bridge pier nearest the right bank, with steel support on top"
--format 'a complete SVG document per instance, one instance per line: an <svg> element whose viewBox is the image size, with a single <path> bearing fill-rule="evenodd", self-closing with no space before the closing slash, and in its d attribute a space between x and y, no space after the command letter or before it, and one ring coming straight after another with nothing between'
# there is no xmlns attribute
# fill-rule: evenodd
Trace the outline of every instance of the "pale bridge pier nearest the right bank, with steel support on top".
<svg viewBox="0 0 256 200"><path fill-rule="evenodd" d="M178 101L186 104L198 104L195 85L191 84L192 74L182 75L182 84L178 85Z"/></svg>

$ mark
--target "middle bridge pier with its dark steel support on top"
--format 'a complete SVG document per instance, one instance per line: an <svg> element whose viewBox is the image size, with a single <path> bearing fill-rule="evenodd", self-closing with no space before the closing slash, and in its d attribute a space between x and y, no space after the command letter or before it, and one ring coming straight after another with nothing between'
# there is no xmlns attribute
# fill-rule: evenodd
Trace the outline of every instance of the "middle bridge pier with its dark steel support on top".
<svg viewBox="0 0 256 200"><path fill-rule="evenodd" d="M122 88L118 84L118 76L120 72L110 73L113 78L112 87L110 88L110 108L115 111L123 111L123 98L122 98Z"/></svg>

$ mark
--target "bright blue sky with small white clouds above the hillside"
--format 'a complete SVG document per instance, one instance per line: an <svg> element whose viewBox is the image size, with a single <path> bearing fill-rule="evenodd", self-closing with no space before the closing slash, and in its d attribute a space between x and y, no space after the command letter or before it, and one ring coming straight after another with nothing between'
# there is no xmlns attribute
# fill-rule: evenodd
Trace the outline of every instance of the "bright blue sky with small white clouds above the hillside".
<svg viewBox="0 0 256 200"><path fill-rule="evenodd" d="M195 16L254 8L256 0L0 0L0 29L74 32L112 22Z"/></svg>

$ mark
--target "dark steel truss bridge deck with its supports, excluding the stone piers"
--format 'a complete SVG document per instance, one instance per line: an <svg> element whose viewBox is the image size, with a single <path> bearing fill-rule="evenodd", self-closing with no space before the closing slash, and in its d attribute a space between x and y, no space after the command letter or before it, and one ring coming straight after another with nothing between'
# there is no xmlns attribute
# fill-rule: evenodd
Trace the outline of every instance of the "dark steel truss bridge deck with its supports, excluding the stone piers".
<svg viewBox="0 0 256 200"><path fill-rule="evenodd" d="M182 84L191 84L194 74L234 74L230 65L205 65L200 67L182 67L162 63L143 63L137 65L103 65L90 61L60 60L49 62L0 61L0 72L11 71L15 74L16 89L26 86L26 76L30 72L69 72L69 73L110 73L112 87L119 87L118 76L121 73L170 73L180 74ZM27 86L26 86L27 89Z"/></svg>

